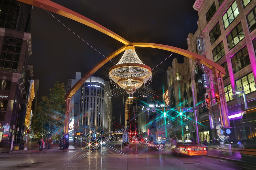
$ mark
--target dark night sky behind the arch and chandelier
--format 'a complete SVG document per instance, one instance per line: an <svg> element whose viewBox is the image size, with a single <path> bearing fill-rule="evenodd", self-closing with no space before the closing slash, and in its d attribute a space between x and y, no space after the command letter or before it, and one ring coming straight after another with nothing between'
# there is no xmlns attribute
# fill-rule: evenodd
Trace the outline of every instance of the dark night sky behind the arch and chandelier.
<svg viewBox="0 0 256 170"><path fill-rule="evenodd" d="M103 25L130 42L145 42L170 45L187 49L186 38L197 30L198 15L191 0L54 0L79 14ZM113 38L86 25L62 17L46 10L33 7L32 12L32 55L34 79L39 79L38 99L49 96L50 88L56 81L66 84L76 71L84 75L115 50L123 46ZM60 22L59 22L59 21ZM66 28L67 27L67 28ZM74 33L72 33L70 30ZM89 45L90 46L89 46ZM95 49L93 49L95 48ZM144 64L152 70L153 84L163 82L173 57L183 62L183 56L146 47L136 47L135 51ZM112 61L117 63L123 53ZM165 60L162 64L157 66ZM94 76L108 80L109 61ZM157 66L157 67L156 67ZM156 68L155 68L156 67ZM121 88L113 91L113 105L123 103L115 100ZM124 94L125 95L125 94ZM118 103L119 102L119 103Z"/></svg>

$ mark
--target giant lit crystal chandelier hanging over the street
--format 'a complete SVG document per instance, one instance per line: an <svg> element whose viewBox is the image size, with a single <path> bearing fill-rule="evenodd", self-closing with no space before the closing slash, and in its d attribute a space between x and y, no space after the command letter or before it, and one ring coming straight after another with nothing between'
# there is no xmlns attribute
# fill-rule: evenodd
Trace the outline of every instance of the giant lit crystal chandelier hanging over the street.
<svg viewBox="0 0 256 170"><path fill-rule="evenodd" d="M133 46L127 46L122 58L110 68L109 80L125 89L126 93L133 94L135 89L143 83L152 82L151 68L146 66L138 57Z"/></svg>

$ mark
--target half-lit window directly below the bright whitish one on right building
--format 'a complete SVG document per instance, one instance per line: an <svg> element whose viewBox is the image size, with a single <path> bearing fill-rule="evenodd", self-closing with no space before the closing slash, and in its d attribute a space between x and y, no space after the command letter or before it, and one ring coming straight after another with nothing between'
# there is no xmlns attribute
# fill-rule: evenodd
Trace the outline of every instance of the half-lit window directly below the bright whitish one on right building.
<svg viewBox="0 0 256 170"><path fill-rule="evenodd" d="M237 45L244 38L241 22L227 35L229 50Z"/></svg>

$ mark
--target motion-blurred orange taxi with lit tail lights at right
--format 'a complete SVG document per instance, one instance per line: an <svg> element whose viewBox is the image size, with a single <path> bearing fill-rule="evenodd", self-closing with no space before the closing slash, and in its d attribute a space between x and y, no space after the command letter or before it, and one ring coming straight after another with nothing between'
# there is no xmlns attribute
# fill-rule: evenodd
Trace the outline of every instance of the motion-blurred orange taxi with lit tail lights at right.
<svg viewBox="0 0 256 170"><path fill-rule="evenodd" d="M177 142L176 147L173 149L173 154L180 155L206 155L206 147L197 142Z"/></svg>

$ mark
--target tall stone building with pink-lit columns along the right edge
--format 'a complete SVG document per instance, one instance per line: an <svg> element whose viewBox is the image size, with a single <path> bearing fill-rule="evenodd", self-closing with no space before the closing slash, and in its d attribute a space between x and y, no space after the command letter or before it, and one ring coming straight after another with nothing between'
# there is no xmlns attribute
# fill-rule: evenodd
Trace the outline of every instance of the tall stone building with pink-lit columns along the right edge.
<svg viewBox="0 0 256 170"><path fill-rule="evenodd" d="M188 35L188 50L218 63L226 70L223 81L215 80L214 76L209 74L211 70L207 69L207 66L190 62L191 71L195 75L192 82L195 81L196 84L196 103L204 103L206 96L210 98L208 112L197 112L198 122L209 122L203 124L203 128L206 127L212 132L205 133L205 130L199 127L201 140L208 138L207 141L210 142L213 138L228 136L234 143L243 140L247 144L255 144L255 2L196 0L193 6L198 11L198 30L195 34ZM205 78L205 75L208 75L208 78ZM209 82L205 83L205 80ZM200 89L197 85L204 88ZM220 88L216 89L215 85ZM219 98L214 96L216 93L223 99L221 102L227 105L229 128L223 128L220 122L221 109L217 102Z"/></svg>

